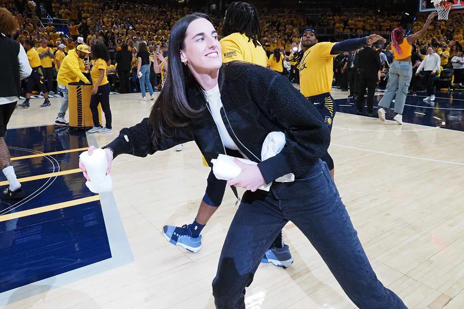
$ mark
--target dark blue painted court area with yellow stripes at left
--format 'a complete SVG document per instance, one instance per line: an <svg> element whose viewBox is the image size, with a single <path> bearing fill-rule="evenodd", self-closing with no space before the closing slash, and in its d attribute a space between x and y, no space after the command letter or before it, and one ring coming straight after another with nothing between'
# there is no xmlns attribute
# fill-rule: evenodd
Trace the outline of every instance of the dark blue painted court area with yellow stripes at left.
<svg viewBox="0 0 464 309"><path fill-rule="evenodd" d="M99 196L77 170L85 132L11 129L6 144L26 198L1 200L0 293L110 259Z"/></svg>

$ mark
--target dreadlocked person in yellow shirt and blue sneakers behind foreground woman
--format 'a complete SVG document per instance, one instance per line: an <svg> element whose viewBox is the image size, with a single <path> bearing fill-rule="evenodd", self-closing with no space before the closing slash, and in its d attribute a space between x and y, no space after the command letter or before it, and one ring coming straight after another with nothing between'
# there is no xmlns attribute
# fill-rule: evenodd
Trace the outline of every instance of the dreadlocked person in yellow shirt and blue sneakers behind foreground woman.
<svg viewBox="0 0 464 309"><path fill-rule="evenodd" d="M261 38L261 30L258 11L254 6L245 2L232 2L226 11L222 35L224 38L219 43L224 63L238 60L267 66L266 52L258 41ZM237 152L236 157L242 157L242 154ZM203 160L203 162L206 161ZM232 189L238 198L237 190ZM191 252L200 251L202 247L200 233L218 206L214 205L205 195L193 223L182 227L167 225L163 228L164 237L170 243ZM277 235L261 262L271 262L284 268L293 263L289 246L284 244L282 231Z"/></svg>

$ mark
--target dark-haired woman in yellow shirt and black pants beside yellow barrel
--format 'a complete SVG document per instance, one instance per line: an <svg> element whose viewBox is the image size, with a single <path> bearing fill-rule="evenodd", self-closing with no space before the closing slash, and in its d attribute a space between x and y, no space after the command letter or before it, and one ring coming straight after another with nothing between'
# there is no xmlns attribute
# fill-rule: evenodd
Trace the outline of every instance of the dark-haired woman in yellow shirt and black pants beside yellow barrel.
<svg viewBox="0 0 464 309"><path fill-rule="evenodd" d="M91 47L92 68L92 96L90 97L90 110L92 111L93 128L89 133L109 133L113 132L111 126L111 109L110 109L110 92L111 86L106 76L107 62L110 61L110 53L102 43L95 43ZM100 124L98 117L98 104L102 105L102 111L105 114L106 126Z"/></svg>

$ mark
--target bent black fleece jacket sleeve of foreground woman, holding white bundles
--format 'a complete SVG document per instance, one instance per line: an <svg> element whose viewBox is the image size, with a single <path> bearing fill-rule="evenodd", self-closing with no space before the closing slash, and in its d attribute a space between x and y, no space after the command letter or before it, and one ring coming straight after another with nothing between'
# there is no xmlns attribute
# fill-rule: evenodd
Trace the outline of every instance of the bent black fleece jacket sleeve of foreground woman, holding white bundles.
<svg viewBox="0 0 464 309"><path fill-rule="evenodd" d="M250 83L254 101L271 121L284 127L286 143L276 156L258 164L266 183L289 173L303 175L308 164L316 162L326 153L330 144L327 125L321 114L310 104L300 91L293 87L288 78L275 75L270 83ZM267 89L263 100L263 89Z"/></svg>

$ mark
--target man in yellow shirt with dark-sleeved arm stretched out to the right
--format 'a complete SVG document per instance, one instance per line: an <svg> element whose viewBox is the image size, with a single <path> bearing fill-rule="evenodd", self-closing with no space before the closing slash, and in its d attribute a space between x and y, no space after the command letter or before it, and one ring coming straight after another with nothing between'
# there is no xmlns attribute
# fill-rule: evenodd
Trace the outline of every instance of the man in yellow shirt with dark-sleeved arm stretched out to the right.
<svg viewBox="0 0 464 309"><path fill-rule="evenodd" d="M380 35L372 34L368 37L352 38L338 43L319 43L313 29L304 31L301 40L302 50L296 53L291 61L295 61L300 70L301 93L308 98L310 103L316 105L330 132L332 132L332 122L335 116L334 99L330 95L333 58L343 51L357 50L378 40L387 42ZM328 165L330 173L334 177L334 160L329 152L326 152L321 160Z"/></svg>

